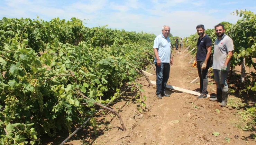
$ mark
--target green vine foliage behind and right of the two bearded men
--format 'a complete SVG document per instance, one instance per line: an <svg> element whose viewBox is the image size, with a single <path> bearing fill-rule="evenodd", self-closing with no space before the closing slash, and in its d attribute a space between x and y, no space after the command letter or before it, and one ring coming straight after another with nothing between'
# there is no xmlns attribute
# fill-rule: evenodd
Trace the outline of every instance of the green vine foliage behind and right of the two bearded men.
<svg viewBox="0 0 256 145"><path fill-rule="evenodd" d="M220 22L225 27L225 33L229 37L231 37L234 42L234 54L231 58L231 65L241 65L241 62L245 58L245 65L248 67L253 67L256 70L256 62L253 61L256 58L256 15L253 12L246 10L237 10L236 12L234 12L234 14L242 17L234 25L225 21ZM207 35L209 35L212 39L213 54L214 42L217 38L215 29L207 29L205 30L205 33L207 33ZM188 45L191 45L190 49L196 47L197 39L198 35L196 33L188 37ZM192 52L192 54L195 52L196 49ZM251 82L249 84L246 84L247 89L245 89L245 91L256 90L256 74L252 71L251 76Z"/></svg>

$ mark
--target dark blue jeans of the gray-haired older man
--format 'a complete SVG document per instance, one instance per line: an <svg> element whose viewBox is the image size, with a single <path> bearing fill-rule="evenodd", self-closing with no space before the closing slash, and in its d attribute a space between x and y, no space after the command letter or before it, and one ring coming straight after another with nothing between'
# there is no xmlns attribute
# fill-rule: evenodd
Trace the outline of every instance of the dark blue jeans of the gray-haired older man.
<svg viewBox="0 0 256 145"><path fill-rule="evenodd" d="M158 67L156 65L156 95L163 94L170 74L170 63L162 63Z"/></svg>

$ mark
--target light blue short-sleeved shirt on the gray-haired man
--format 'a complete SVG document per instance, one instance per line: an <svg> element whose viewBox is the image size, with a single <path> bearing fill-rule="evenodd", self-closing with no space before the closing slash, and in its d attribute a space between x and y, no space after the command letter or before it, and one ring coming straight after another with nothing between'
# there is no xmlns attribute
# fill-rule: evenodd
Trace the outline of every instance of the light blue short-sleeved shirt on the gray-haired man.
<svg viewBox="0 0 256 145"><path fill-rule="evenodd" d="M161 62L170 63L171 59L171 42L170 38L165 38L163 34L158 35L154 40L153 48L157 48L158 56ZM156 62L156 58L155 58Z"/></svg>

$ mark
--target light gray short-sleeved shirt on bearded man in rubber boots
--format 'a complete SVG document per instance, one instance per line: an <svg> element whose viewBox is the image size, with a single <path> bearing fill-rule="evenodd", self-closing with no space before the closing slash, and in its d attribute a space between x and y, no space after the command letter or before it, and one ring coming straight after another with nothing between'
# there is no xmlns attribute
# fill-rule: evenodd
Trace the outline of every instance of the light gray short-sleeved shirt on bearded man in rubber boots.
<svg viewBox="0 0 256 145"><path fill-rule="evenodd" d="M216 38L213 49L213 64L212 69L221 70L221 67L224 65L229 51L234 51L233 40L224 34L222 38ZM227 65L227 71L230 68L230 61Z"/></svg>

